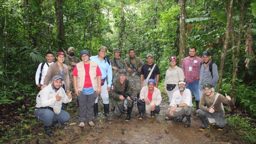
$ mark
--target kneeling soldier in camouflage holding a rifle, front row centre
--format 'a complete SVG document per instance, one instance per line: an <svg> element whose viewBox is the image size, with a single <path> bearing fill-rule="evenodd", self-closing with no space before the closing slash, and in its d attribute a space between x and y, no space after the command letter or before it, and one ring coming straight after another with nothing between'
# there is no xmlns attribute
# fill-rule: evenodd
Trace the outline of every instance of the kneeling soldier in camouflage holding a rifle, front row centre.
<svg viewBox="0 0 256 144"><path fill-rule="evenodd" d="M134 85L127 79L127 72L125 69L120 69L118 72L118 79L115 79L112 83L112 88L109 91L110 95L113 97L113 101L117 104L117 109L114 110L116 116L120 116L123 112L124 103L127 105L127 116L125 121L131 120L131 113L133 107L133 101L128 96L127 99L124 98L120 93L124 92L125 94L130 94L131 96L136 96L136 89ZM118 94L118 92L120 92Z"/></svg>

